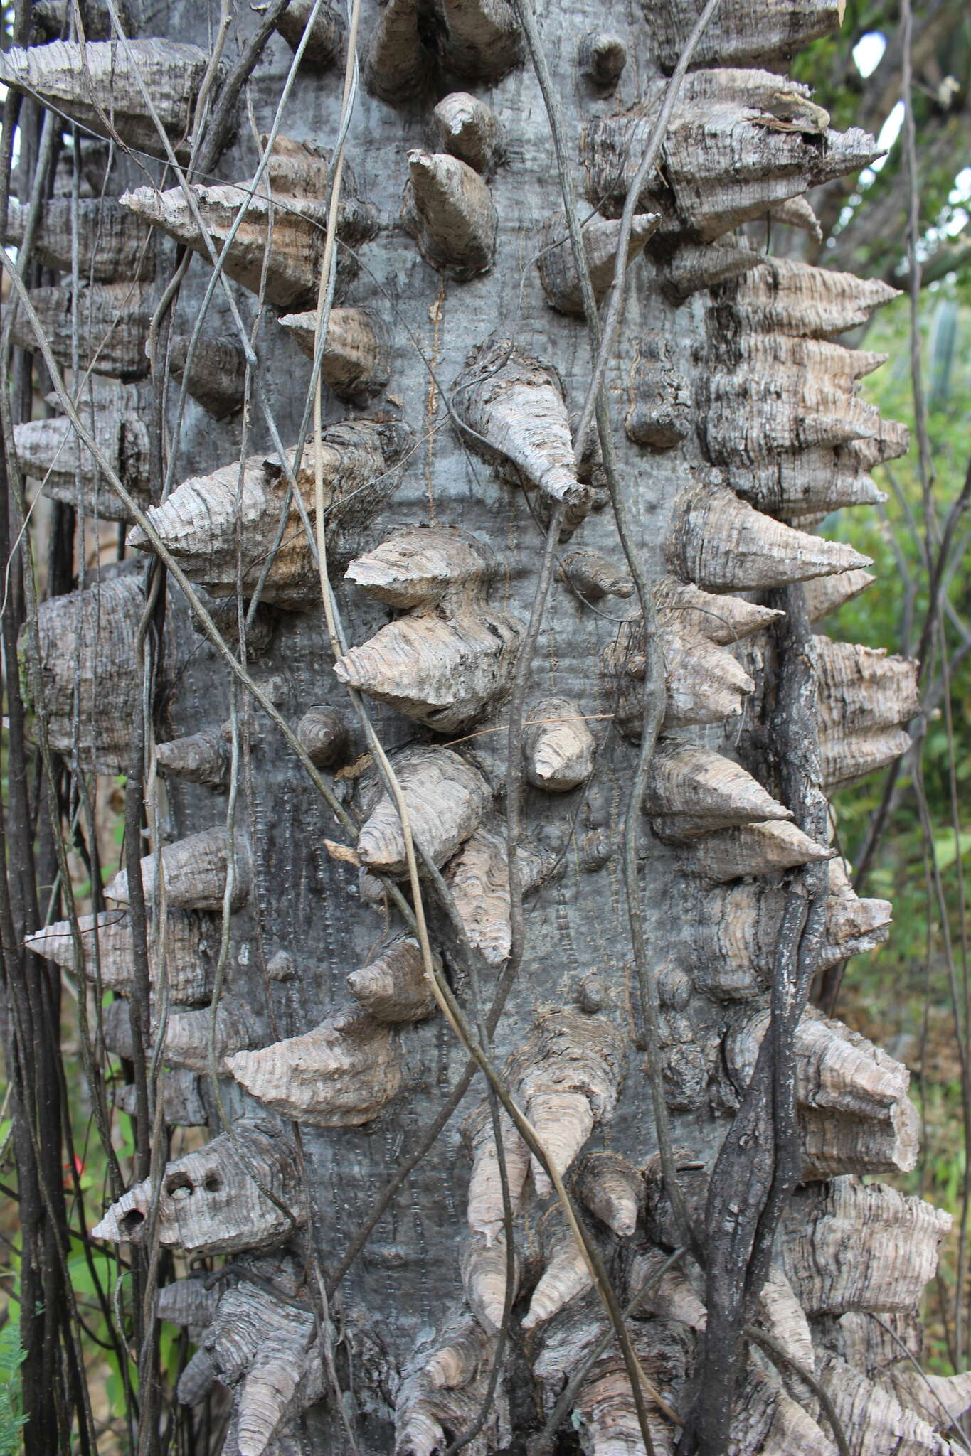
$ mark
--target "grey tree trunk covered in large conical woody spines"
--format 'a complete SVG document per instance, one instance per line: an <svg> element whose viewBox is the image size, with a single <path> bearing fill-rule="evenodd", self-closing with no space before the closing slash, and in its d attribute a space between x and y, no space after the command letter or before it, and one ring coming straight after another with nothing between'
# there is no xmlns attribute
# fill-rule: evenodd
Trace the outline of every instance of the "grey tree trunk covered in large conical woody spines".
<svg viewBox="0 0 971 1456"><path fill-rule="evenodd" d="M224 1452L945 1452L967 1382L910 1356L949 1220L863 1181L914 1165L908 1073L806 1009L889 925L821 791L917 706L911 664L809 626L872 579L815 526L905 448L857 395L879 357L833 342L892 291L745 239L873 156L785 79L837 6L722 0L636 175L694 0L543 4L560 179L528 3L364 0L330 213L329 0L280 128L281 35L247 84L255 182L242 105L213 141L249 10L205 84L194 6L0 60L80 138L33 239L58 416L13 450L135 523L39 612L51 747L134 805L109 909L31 942L116 993L134 1059L151 1172L93 1232L148 1297L153 1242L185 1257L157 1312L197 1345L179 1399L231 1390ZM135 151L105 172L92 132Z"/></svg>

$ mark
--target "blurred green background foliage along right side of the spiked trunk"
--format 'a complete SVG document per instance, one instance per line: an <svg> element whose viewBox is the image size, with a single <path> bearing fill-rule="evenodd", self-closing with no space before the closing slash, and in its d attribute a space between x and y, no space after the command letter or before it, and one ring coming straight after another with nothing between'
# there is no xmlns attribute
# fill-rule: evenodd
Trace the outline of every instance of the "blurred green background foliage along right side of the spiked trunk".
<svg viewBox="0 0 971 1456"><path fill-rule="evenodd" d="M922 294L922 364L927 397L927 437L933 482L930 517L939 530L948 507L959 494L971 438L967 399L971 393L971 303L949 281ZM910 377L910 300L898 298L875 319L865 341L885 352L888 363L863 381L863 393L889 419L911 427L910 453L873 472L888 499L879 510L843 511L827 521L825 534L852 542L873 558L876 585L821 623L830 636L866 642L889 652L913 655L927 610L924 566L924 501L914 438ZM961 545L956 569L948 581L952 614L943 617L943 642L955 658L971 622L970 545L958 527ZM955 1230L945 1245L940 1277L929 1310L927 1364L949 1372L948 1329L954 1328L956 1286L956 1227L965 1188L965 1128L958 1029L964 1006L955 1010L952 974L959 1003L964 999L962 878L971 871L971 823L961 811L971 780L971 652L955 658L942 678L940 644L929 664L924 693L939 696L922 751L930 837L922 830L917 785L910 766L898 779L898 801L865 894L891 900L894 930L876 954L850 961L836 1012L853 1026L888 1045L916 1073L911 1083L924 1124L922 1160L908 1178L898 1179L907 1192L920 1192L955 1216ZM951 703L951 728L945 712ZM958 801L952 823L952 788ZM866 836L871 815L884 791L884 775L836 795L840 843L853 859ZM932 871L940 875L952 965L933 894ZM967 888L964 887L965 893ZM938 1306L935 1307L935 1302ZM943 1302L943 1303L940 1303Z"/></svg>

